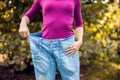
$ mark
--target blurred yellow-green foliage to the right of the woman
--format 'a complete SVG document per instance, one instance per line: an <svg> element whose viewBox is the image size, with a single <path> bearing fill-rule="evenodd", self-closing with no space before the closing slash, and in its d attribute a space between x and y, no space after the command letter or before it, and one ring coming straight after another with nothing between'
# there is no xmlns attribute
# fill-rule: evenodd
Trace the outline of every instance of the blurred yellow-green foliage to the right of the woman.
<svg viewBox="0 0 120 80"><path fill-rule="evenodd" d="M84 43L81 65L89 80L119 80L120 10L114 3L83 5ZM84 69L84 68L83 68Z"/></svg>

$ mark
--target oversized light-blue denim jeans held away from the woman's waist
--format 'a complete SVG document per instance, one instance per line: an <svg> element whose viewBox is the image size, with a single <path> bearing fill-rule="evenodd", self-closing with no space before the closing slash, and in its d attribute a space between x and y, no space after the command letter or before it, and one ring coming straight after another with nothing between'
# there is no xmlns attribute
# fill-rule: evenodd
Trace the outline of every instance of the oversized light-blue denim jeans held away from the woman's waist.
<svg viewBox="0 0 120 80"><path fill-rule="evenodd" d="M68 56L66 49L75 42L75 36L45 39L42 33L29 35L36 80L55 80L58 68L62 80L80 80L79 53Z"/></svg>

